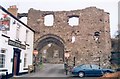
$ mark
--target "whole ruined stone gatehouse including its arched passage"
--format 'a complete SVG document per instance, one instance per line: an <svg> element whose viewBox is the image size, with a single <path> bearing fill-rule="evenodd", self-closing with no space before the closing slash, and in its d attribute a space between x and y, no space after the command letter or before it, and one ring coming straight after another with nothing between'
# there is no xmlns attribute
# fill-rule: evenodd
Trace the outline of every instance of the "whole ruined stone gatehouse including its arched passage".
<svg viewBox="0 0 120 79"><path fill-rule="evenodd" d="M46 25L46 16L52 25ZM71 19L77 23L71 25ZM76 20L73 20L73 22ZM96 7L71 11L28 11L28 26L36 31L34 48L48 62L99 64L108 67L111 52L109 13Z"/></svg>

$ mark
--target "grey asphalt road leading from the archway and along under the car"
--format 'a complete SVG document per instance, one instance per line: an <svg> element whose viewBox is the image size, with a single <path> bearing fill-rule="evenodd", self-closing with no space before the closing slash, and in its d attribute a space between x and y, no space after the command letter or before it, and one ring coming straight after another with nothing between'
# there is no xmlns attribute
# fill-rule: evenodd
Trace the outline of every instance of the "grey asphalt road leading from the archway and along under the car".
<svg viewBox="0 0 120 79"><path fill-rule="evenodd" d="M93 77L84 77L84 78L78 78L78 77L71 77L70 74L66 75L64 71L64 65L63 64L44 64L42 68L37 68L35 73L30 73L26 75L19 76L20 77L34 77L34 78L40 78L43 77L44 79L97 79ZM67 77L67 78L66 78Z"/></svg>

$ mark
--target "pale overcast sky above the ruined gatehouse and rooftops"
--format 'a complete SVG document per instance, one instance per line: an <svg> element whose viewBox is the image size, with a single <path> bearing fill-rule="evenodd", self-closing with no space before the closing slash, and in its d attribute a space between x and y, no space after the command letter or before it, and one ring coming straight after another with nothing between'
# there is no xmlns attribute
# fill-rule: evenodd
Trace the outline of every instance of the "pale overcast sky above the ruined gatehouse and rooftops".
<svg viewBox="0 0 120 79"><path fill-rule="evenodd" d="M11 5L17 5L19 13L28 12L30 8L42 11L69 11L96 6L110 13L111 36L114 37L118 29L118 1L119 0L1 0L0 5L6 9Z"/></svg>

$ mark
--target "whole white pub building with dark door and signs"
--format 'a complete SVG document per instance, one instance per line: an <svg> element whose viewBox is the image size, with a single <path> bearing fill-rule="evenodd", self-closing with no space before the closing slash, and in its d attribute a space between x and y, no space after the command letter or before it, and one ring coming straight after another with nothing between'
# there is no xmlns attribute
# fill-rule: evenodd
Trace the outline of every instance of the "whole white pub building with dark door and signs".
<svg viewBox="0 0 120 79"><path fill-rule="evenodd" d="M0 74L28 72L33 60L33 41L34 30L0 6Z"/></svg>

